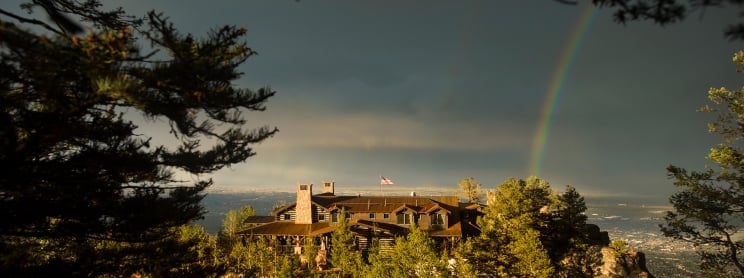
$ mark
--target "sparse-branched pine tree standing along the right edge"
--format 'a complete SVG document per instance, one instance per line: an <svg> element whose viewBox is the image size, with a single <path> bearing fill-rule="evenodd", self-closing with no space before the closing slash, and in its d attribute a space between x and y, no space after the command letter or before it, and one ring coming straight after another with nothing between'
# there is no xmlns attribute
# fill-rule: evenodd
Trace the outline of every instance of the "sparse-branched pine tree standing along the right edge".
<svg viewBox="0 0 744 278"><path fill-rule="evenodd" d="M741 72L744 52L734 55ZM701 269L709 274L744 275L744 90L711 88L701 112L717 113L709 123L710 133L723 142L713 147L708 159L717 165L696 172L669 166L668 175L681 188L669 198L674 211L661 225L664 235L695 244ZM730 273L727 273L730 272Z"/></svg>

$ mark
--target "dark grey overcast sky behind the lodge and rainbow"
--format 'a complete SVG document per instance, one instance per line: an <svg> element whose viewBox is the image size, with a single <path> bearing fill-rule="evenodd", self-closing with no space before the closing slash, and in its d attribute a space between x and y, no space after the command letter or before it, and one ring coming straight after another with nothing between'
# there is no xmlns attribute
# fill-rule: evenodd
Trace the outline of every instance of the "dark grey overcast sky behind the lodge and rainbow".
<svg viewBox="0 0 744 278"><path fill-rule="evenodd" d="M584 2L584 1L582 1ZM589 2L589 1L585 1ZM664 202L669 164L702 169L717 138L695 112L710 87L739 88L723 38L736 11L711 9L661 28L600 10L557 95L539 173L533 142L552 78L584 5L556 1L117 1L155 9L197 36L247 27L258 56L237 84L278 94L252 126L280 133L258 155L212 177L218 186L293 191L336 181L341 191L493 188L538 174L583 195Z"/></svg>

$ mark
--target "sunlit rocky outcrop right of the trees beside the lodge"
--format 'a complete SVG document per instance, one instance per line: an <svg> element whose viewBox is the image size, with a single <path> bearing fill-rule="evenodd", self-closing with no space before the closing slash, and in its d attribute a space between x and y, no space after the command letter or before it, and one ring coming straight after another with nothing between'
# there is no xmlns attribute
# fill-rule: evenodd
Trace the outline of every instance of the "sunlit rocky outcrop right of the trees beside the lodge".
<svg viewBox="0 0 744 278"><path fill-rule="evenodd" d="M646 256L630 249L610 247L607 232L601 232L597 225L587 225L592 244L587 257L593 258L593 277L654 277L646 268Z"/></svg>

